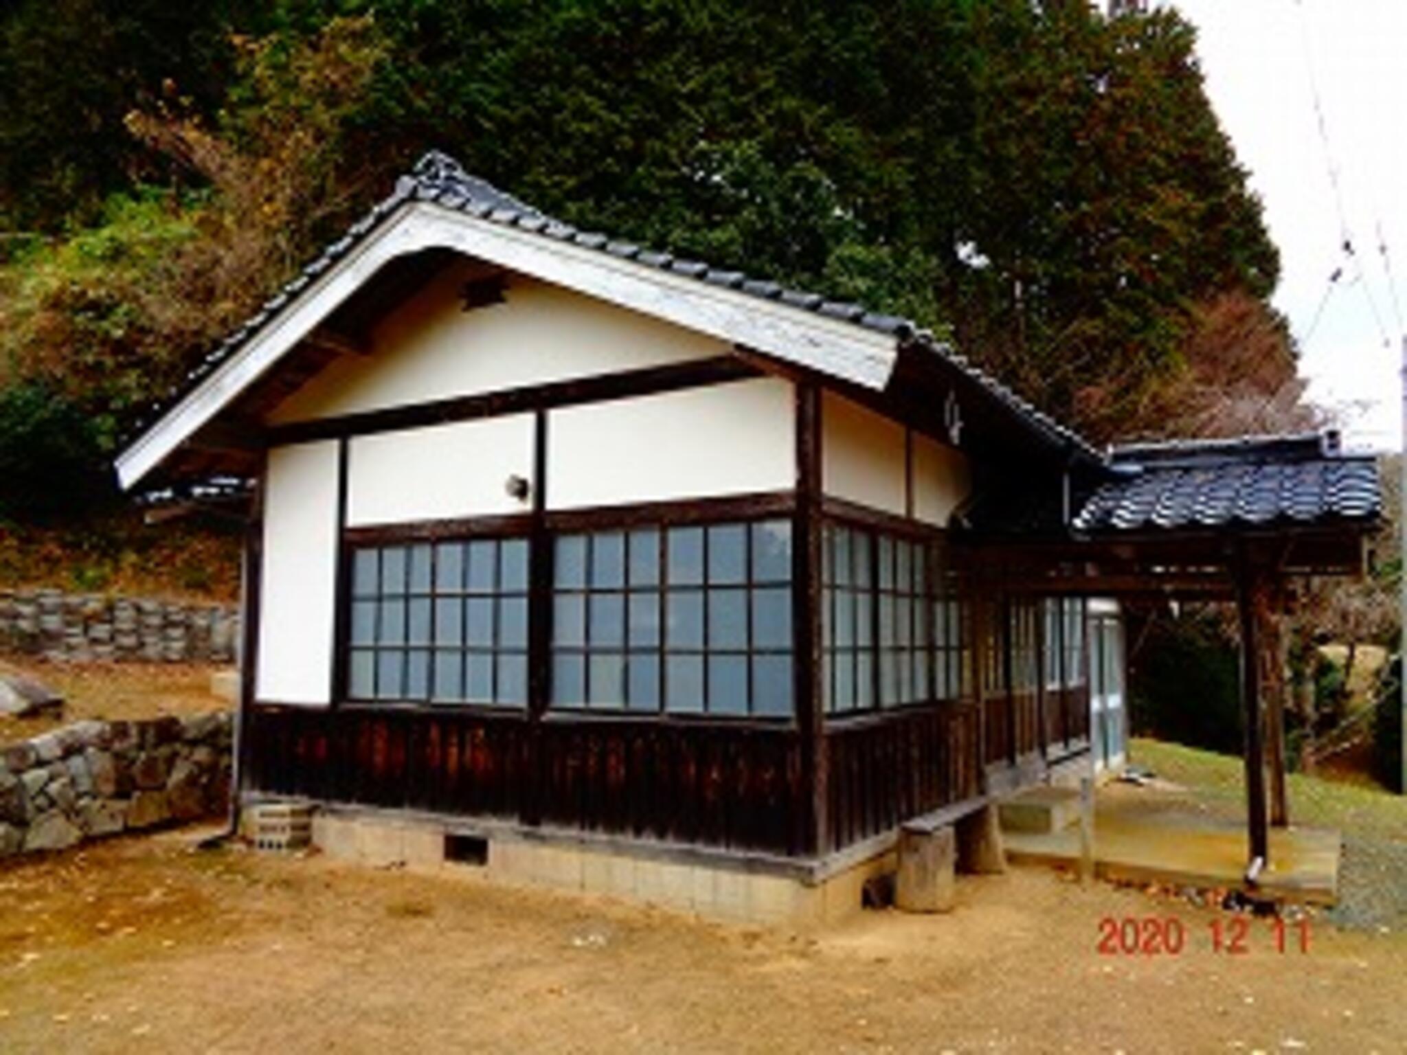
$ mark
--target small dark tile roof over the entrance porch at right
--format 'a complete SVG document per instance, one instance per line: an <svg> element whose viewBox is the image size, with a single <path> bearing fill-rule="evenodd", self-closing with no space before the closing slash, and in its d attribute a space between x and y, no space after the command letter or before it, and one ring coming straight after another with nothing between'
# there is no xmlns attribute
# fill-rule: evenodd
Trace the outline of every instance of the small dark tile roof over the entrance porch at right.
<svg viewBox="0 0 1407 1055"><path fill-rule="evenodd" d="M1116 478L1075 515L1083 533L1370 522L1377 461L1344 454L1334 433L1116 447Z"/></svg>

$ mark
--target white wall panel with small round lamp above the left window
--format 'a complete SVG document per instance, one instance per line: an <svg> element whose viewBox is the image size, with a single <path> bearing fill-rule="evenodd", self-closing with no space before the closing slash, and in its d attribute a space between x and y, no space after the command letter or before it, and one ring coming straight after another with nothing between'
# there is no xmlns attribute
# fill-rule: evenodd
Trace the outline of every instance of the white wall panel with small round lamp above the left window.
<svg viewBox="0 0 1407 1055"><path fill-rule="evenodd" d="M529 512L530 494L508 494L511 475L536 487L530 414L356 436L348 443L348 525Z"/></svg>

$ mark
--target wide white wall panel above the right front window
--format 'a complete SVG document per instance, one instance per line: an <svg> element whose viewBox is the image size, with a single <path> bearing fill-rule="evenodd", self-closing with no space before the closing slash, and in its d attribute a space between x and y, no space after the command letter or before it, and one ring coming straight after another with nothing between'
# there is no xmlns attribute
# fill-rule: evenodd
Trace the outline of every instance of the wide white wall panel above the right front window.
<svg viewBox="0 0 1407 1055"><path fill-rule="evenodd" d="M795 487L794 422L792 385L775 377L552 411L547 506Z"/></svg>

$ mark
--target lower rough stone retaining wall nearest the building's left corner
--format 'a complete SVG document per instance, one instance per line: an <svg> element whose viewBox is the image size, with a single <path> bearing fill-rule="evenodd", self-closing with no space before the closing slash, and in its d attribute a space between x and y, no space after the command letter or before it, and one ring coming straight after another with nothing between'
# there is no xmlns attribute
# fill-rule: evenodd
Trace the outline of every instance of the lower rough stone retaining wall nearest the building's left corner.
<svg viewBox="0 0 1407 1055"><path fill-rule="evenodd" d="M228 713L79 722L0 747L0 858L219 816Z"/></svg>

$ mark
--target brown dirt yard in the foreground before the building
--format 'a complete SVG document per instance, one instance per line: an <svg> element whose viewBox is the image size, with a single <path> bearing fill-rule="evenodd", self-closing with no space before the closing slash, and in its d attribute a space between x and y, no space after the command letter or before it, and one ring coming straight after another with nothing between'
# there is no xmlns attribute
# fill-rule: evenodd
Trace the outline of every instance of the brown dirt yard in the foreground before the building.
<svg viewBox="0 0 1407 1055"><path fill-rule="evenodd" d="M196 852L169 833L0 871L0 1049L1397 1052L1407 940L1316 921L1242 955L1213 921L1041 869L964 878L941 917L816 935L481 874ZM1100 919L1179 955L1102 955Z"/></svg>

